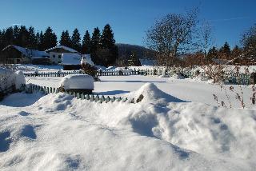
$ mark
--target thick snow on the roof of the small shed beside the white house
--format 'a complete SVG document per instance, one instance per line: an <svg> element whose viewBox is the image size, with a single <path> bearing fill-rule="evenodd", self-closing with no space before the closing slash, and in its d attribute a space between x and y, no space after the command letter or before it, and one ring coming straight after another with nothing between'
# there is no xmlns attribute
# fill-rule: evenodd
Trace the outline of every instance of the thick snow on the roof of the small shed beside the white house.
<svg viewBox="0 0 256 171"><path fill-rule="evenodd" d="M82 58L86 59L91 66L94 66L94 62L91 61L90 54L70 54L63 53L62 54L62 65L65 66L73 66L73 65L81 65Z"/></svg>

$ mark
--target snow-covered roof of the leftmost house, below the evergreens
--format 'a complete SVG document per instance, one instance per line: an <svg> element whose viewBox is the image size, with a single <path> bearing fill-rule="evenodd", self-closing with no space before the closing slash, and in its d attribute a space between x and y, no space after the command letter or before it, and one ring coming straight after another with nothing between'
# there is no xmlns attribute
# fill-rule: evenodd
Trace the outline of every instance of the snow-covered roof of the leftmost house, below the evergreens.
<svg viewBox="0 0 256 171"><path fill-rule="evenodd" d="M16 50L20 51L22 54L26 55L27 57L31 57L31 58L45 58L45 57L50 56L45 51L30 50L28 48L24 48L24 47L21 47L21 46L15 46L15 45L6 46L6 48L4 48L2 51L6 50L10 47L14 47Z"/></svg>

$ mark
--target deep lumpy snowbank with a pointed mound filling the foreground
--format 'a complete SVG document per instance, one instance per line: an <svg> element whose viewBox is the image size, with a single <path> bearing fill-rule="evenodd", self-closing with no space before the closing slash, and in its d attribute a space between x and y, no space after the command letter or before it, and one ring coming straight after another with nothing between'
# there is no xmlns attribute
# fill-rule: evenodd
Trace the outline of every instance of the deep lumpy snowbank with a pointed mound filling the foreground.
<svg viewBox="0 0 256 171"><path fill-rule="evenodd" d="M64 93L25 107L8 106L15 99L7 99L0 105L0 168L254 170L254 110L185 102L152 83L126 96L141 93L136 104L99 104Z"/></svg>

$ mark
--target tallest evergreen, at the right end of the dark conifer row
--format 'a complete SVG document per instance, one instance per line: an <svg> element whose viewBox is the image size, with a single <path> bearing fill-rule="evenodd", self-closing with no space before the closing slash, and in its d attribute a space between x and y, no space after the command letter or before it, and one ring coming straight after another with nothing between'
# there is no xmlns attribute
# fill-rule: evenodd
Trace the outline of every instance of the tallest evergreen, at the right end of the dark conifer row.
<svg viewBox="0 0 256 171"><path fill-rule="evenodd" d="M111 49L114 47L114 34L109 24L104 26L102 30L101 45L103 49Z"/></svg>

